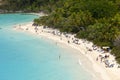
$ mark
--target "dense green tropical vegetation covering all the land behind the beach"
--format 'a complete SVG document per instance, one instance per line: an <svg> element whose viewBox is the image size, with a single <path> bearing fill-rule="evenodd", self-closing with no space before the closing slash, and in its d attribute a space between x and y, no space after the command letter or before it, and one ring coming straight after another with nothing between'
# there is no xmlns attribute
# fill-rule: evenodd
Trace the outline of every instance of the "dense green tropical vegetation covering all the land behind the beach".
<svg viewBox="0 0 120 80"><path fill-rule="evenodd" d="M1 6L2 9L48 13L48 16L35 19L36 24L76 33L76 37L101 47L110 46L120 63L120 0L4 1L7 7Z"/></svg>

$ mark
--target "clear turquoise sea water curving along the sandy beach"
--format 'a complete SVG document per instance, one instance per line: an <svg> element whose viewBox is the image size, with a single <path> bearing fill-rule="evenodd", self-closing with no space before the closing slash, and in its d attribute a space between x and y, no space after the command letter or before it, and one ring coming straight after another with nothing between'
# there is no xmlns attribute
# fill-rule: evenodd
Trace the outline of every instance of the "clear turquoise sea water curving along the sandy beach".
<svg viewBox="0 0 120 80"><path fill-rule="evenodd" d="M78 64L78 54L51 40L12 30L36 17L0 14L0 80L92 80Z"/></svg>

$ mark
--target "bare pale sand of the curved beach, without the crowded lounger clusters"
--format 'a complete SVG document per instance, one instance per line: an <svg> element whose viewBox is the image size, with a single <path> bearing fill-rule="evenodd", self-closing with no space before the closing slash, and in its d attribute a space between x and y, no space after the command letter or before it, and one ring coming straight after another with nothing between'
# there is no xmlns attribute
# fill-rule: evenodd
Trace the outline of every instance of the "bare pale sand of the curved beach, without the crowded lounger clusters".
<svg viewBox="0 0 120 80"><path fill-rule="evenodd" d="M53 31L55 32L59 32L58 30L53 30L50 28L43 28L43 26L39 26L37 27L38 30L37 32L35 31L35 26L32 26L33 22L30 23L26 23L26 24L21 24L21 25L15 25L14 26L14 30L17 31L23 31L23 32L29 32L32 34L35 34L37 36L40 37L45 37L45 38L49 38L52 39L54 41L56 41L56 43L59 44L65 44L66 46L70 46L73 49L78 50L79 52L81 52L82 54L84 54L89 61L91 61L92 64L90 64L89 66L92 66L93 70L90 70L91 73L97 77L98 80L120 80L120 68L118 68L118 64L116 64L115 60L114 60L114 56L110 55L110 57L108 58L109 61L111 61L111 63L114 63L114 67L112 68L106 68L104 62L100 61L100 58L98 58L98 61L96 61L96 58L102 54L104 55L102 52L97 51L97 50L93 50L92 47L92 43L79 39L79 45L73 43L72 38L74 38L74 35L72 34L68 34L68 37L65 37L63 34L61 36L59 35L53 35ZM75 38L74 38L75 39ZM68 43L68 41L70 43ZM91 49L92 51L89 51L88 49ZM79 60L78 60L79 61ZM81 64L81 62L79 62ZM87 67L89 67L87 66ZM102 78L102 79L101 79Z"/></svg>

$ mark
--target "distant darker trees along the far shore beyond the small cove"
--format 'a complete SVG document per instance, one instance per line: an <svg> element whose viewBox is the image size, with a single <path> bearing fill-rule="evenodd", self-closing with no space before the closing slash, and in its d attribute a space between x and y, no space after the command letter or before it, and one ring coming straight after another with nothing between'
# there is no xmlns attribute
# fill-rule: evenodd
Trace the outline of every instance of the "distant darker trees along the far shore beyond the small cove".
<svg viewBox="0 0 120 80"><path fill-rule="evenodd" d="M1 6L1 9L38 12L41 10L44 11L44 9L41 8L42 6L50 9L55 2L57 2L57 0L4 0L5 4Z"/></svg>

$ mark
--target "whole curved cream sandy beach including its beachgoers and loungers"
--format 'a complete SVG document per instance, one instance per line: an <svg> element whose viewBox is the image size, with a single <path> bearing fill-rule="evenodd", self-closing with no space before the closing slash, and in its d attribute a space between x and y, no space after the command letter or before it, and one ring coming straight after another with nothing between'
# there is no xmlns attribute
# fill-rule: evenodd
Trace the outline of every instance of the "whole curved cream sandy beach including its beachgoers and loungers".
<svg viewBox="0 0 120 80"><path fill-rule="evenodd" d="M32 24L33 22L18 24L15 25L13 29L15 31L28 32L38 37L49 38L57 44L64 44L65 46L76 49L91 61L92 64L89 66L92 66L92 70L90 71L97 80L120 80L119 65L110 53L105 53L98 46L94 47L92 42L75 38L75 34L60 33L59 30L56 29L46 28L44 26L33 26ZM106 54L109 55L109 57L103 59ZM109 62L109 66L106 64L106 61ZM81 63L79 62L79 64Z"/></svg>

